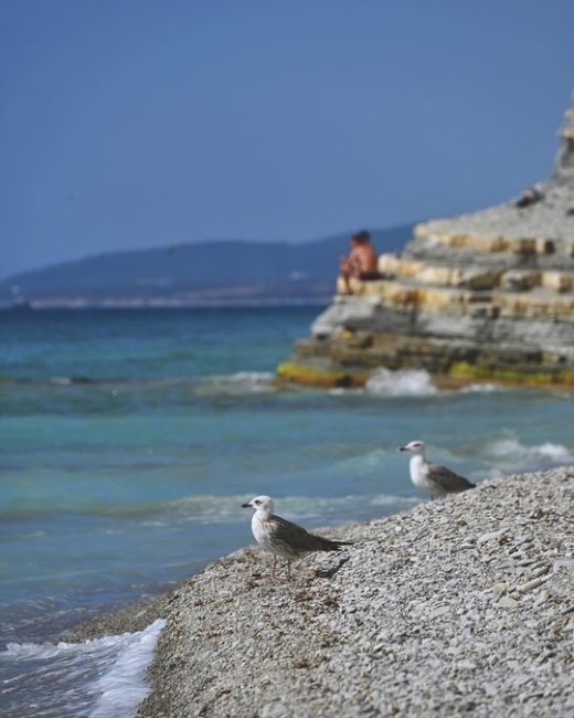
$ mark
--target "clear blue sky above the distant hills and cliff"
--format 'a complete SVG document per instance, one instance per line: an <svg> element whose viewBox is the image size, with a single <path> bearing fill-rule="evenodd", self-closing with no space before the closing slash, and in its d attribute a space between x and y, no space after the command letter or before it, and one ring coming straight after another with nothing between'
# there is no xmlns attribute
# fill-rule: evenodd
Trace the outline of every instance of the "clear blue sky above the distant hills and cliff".
<svg viewBox="0 0 574 718"><path fill-rule="evenodd" d="M518 194L573 27L572 0L0 0L0 276Z"/></svg>

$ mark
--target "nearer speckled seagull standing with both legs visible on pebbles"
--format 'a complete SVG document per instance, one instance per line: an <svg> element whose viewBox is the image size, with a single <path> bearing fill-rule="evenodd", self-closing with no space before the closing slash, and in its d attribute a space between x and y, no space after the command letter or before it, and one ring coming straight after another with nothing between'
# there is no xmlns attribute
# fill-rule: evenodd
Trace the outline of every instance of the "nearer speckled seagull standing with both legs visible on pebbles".
<svg viewBox="0 0 574 718"><path fill-rule="evenodd" d="M342 546L349 546L351 541L331 541L309 534L297 524L291 524L280 516L275 516L273 499L269 496L256 496L242 508L254 508L252 518L252 531L257 543L265 550L273 553L273 578L277 557L287 559L287 578L291 578L291 561L302 558L306 553L313 551L338 551Z"/></svg>

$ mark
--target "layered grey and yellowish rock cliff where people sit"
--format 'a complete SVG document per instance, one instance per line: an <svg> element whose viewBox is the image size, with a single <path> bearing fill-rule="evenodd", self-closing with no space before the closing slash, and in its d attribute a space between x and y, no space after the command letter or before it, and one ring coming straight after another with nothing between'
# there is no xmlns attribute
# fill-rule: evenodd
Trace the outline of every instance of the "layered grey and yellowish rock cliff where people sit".
<svg viewBox="0 0 574 718"><path fill-rule="evenodd" d="M560 138L552 177L522 201L418 224L383 254L382 278L338 294L279 376L344 386L423 368L574 386L574 108Z"/></svg>

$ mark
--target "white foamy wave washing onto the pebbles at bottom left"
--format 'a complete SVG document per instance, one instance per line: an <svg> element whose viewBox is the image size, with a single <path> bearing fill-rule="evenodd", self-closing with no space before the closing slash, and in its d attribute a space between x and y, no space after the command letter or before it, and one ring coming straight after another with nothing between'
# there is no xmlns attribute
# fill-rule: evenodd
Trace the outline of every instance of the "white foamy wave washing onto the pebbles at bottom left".
<svg viewBox="0 0 574 718"><path fill-rule="evenodd" d="M0 656L22 662L36 687L42 685L43 678L46 680L50 690L43 691L42 698L35 701L42 715L55 715L50 706L50 691L55 689L57 701L61 704L64 696L74 714L91 718L131 718L149 693L145 672L164 625L166 622L158 619L144 631L84 643L9 643ZM18 676L25 677L25 674ZM71 677L75 682L71 682ZM75 685L77 682L82 685ZM74 683L72 687L71 683Z"/></svg>

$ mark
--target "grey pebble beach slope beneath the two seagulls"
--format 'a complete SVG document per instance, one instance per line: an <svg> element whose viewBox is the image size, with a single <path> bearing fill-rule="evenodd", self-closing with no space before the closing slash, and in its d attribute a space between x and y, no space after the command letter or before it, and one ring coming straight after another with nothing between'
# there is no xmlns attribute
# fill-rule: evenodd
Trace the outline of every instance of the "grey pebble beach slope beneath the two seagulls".
<svg viewBox="0 0 574 718"><path fill-rule="evenodd" d="M573 514L565 467L326 530L290 583L237 551L163 604L138 716L572 716Z"/></svg>

